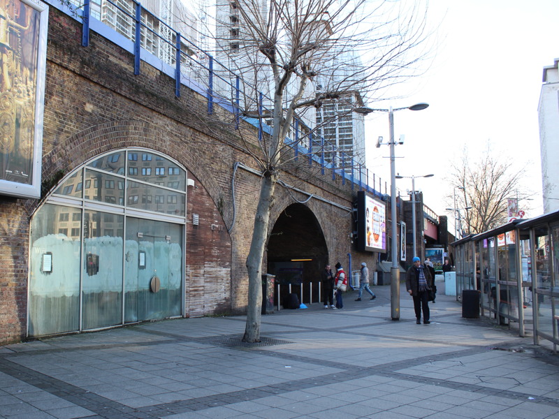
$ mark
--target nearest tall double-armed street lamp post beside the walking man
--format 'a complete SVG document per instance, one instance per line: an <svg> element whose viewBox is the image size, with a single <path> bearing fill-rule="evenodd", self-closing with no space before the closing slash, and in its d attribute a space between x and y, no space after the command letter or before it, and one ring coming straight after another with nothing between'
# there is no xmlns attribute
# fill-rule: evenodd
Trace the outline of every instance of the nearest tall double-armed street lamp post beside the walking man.
<svg viewBox="0 0 559 419"><path fill-rule="evenodd" d="M400 320L400 266L398 265L398 219L396 215L396 170L394 155L394 112L397 110L423 110L428 108L428 103L417 103L408 108L370 109L370 112L389 112L389 142L382 142L379 138L377 148L381 145L390 146L390 212L392 222L392 266L390 267L390 305L392 320Z"/></svg>

